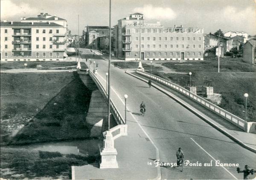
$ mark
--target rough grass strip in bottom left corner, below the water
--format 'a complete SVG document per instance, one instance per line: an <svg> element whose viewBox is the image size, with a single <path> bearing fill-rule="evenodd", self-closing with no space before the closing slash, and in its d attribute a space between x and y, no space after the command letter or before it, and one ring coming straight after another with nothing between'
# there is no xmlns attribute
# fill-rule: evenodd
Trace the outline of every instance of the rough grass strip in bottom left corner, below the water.
<svg viewBox="0 0 256 180"><path fill-rule="evenodd" d="M99 156L1 148L1 174L4 179L71 179L72 165L87 165Z"/></svg>

